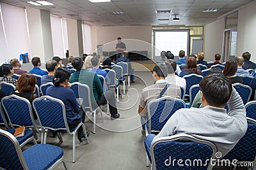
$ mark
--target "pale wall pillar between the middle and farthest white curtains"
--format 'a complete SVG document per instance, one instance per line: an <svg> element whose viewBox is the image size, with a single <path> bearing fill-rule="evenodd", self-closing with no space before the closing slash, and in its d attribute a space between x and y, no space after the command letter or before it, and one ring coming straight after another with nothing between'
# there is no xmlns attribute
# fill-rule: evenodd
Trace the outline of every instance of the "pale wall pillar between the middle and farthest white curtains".
<svg viewBox="0 0 256 170"><path fill-rule="evenodd" d="M78 35L77 35L77 20L67 18L68 31L68 52L69 55L79 56Z"/></svg>

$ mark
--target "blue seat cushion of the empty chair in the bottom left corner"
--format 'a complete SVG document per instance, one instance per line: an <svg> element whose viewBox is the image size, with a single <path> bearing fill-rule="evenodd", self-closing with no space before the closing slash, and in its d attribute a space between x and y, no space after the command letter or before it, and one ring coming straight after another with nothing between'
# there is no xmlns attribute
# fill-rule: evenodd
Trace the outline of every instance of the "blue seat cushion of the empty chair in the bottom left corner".
<svg viewBox="0 0 256 170"><path fill-rule="evenodd" d="M29 170L49 169L57 160L63 157L63 150L54 145L33 145L22 152Z"/></svg>

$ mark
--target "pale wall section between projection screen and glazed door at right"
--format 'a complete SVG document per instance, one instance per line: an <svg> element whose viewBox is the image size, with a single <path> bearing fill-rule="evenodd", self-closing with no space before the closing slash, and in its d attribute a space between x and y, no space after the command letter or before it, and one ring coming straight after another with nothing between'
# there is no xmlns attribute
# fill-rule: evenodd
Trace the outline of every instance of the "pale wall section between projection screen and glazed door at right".
<svg viewBox="0 0 256 170"><path fill-rule="evenodd" d="M222 53L224 29L225 18L220 18L204 26L204 60L214 60L215 53Z"/></svg>

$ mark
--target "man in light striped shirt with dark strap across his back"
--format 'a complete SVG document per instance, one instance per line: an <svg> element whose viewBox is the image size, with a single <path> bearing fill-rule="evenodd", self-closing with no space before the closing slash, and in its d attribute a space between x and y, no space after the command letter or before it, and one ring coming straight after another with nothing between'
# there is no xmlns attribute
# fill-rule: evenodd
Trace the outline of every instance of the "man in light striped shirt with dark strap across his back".
<svg viewBox="0 0 256 170"><path fill-rule="evenodd" d="M164 96L170 96L180 99L181 98L181 92L180 87L174 84L168 84L166 83L166 76L168 74L168 67L164 63L159 63L153 68L153 76L156 80L156 83L154 85L150 85L148 87L145 87L142 90L141 98L140 98L140 105L138 108L138 113L141 116L141 134L145 134L145 126L144 124L148 121L148 113L147 113L147 106L150 101L164 97ZM162 90L166 88L163 96L159 96Z"/></svg>

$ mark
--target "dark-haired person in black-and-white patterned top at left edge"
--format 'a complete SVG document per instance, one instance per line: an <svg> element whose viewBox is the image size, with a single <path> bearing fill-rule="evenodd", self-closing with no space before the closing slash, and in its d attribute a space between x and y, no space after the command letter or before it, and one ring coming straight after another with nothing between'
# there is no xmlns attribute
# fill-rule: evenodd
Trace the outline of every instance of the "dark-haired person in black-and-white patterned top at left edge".
<svg viewBox="0 0 256 170"><path fill-rule="evenodd" d="M0 80L6 81L7 83L12 83L13 85L17 85L17 80L12 78L12 74L14 73L13 67L11 64L3 64L0 66Z"/></svg>

